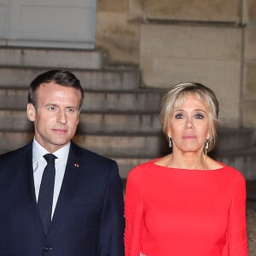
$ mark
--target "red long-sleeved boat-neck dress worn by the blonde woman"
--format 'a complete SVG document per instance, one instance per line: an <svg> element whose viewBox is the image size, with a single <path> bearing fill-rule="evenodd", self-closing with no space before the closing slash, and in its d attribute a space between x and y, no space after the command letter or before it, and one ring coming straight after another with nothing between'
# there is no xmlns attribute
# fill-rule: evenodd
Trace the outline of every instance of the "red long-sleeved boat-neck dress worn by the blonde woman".
<svg viewBox="0 0 256 256"><path fill-rule="evenodd" d="M125 256L247 256L246 186L217 170L135 167L125 191Z"/></svg>

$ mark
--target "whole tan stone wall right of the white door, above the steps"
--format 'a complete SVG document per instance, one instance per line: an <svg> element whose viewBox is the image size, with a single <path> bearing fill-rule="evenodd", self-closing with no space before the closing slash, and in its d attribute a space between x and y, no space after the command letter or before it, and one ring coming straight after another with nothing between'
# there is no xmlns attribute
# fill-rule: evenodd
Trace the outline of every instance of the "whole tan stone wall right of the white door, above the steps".
<svg viewBox="0 0 256 256"><path fill-rule="evenodd" d="M256 129L256 0L99 0L96 46L142 86L207 84L220 123Z"/></svg>

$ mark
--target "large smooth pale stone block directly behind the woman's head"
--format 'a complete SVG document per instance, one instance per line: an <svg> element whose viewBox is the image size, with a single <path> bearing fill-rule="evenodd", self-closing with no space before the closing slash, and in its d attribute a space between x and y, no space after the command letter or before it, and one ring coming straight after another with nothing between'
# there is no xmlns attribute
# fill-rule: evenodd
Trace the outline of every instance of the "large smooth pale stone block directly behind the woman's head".
<svg viewBox="0 0 256 256"><path fill-rule="evenodd" d="M154 37L152 37L154 35ZM238 126L241 31L236 27L143 25L143 83L168 87L186 81L207 84L220 102L220 122Z"/></svg>

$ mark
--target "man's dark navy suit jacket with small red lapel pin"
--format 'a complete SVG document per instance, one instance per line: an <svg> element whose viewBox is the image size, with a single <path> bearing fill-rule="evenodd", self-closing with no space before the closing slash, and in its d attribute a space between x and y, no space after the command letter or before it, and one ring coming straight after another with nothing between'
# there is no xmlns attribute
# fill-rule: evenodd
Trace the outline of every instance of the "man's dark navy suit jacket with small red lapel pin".
<svg viewBox="0 0 256 256"><path fill-rule="evenodd" d="M38 213L32 143L0 156L0 256L122 256L124 202L115 161L71 143L47 236Z"/></svg>

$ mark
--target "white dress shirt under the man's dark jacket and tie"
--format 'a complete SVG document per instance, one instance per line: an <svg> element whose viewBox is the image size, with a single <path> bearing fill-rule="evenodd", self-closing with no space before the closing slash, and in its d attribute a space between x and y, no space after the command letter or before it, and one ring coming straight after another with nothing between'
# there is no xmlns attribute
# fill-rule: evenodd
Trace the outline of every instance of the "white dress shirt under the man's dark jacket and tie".
<svg viewBox="0 0 256 256"><path fill-rule="evenodd" d="M52 154L55 154L57 159L55 159L55 188L54 188L54 195L53 195L51 218L54 215L55 207L61 191L61 184L65 174L66 166L67 166L67 156L69 153L69 148L70 148L70 143L68 143L67 146L60 148L54 153L52 153ZM32 143L32 162L33 162L33 176L34 176L34 184L35 184L37 201L38 201L39 189L40 189L44 168L47 165L47 161L44 159L44 154L49 154L49 152L44 147L42 147L34 138Z"/></svg>

